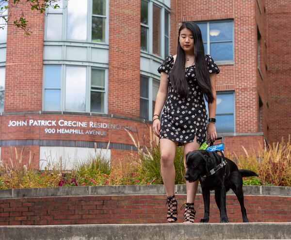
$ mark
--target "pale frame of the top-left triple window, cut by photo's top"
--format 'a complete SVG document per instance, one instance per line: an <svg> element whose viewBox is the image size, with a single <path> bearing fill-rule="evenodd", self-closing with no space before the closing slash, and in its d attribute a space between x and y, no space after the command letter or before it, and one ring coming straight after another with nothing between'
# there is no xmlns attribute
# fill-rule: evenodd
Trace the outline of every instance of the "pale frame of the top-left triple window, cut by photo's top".
<svg viewBox="0 0 291 240"><path fill-rule="evenodd" d="M75 42L75 43L91 43L91 44L109 44L109 0L106 0L106 20L105 20L105 42L92 42L92 18L93 18L93 0L87 0L87 38L86 40L72 40L67 38L67 0L62 0L63 2L63 11L62 13L45 13L45 25L44 25L44 41L45 42ZM62 39L48 39L47 38L47 19L48 14L62 14L63 15L63 30L62 30ZM94 15L95 16L95 15ZM96 15L99 16L99 15ZM80 45L81 46L81 45Z"/></svg>

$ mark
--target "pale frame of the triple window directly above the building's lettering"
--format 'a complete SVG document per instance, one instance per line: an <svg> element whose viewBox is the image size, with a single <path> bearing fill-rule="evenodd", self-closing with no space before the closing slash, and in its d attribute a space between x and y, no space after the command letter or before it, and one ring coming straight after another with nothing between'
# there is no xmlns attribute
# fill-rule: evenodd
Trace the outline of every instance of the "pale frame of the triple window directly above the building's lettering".
<svg viewBox="0 0 291 240"><path fill-rule="evenodd" d="M61 111L48 111L45 110L45 71L46 66L48 65L60 65L61 66ZM97 66L90 65L73 65L73 64L43 64L43 86L42 86L42 111L43 112L87 112L87 113L100 113L100 114L108 114L108 68L102 68ZM85 111L69 111L65 110L65 82L66 82L66 67L85 67L86 68L86 106ZM104 80L104 112L91 112L91 69L100 69L104 70L105 80Z"/></svg>

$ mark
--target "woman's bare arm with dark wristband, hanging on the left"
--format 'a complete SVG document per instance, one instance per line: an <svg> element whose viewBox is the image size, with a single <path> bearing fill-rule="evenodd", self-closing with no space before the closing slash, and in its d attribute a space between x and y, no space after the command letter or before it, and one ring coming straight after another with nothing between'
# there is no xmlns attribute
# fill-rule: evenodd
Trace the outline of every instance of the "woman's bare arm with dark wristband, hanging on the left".
<svg viewBox="0 0 291 240"><path fill-rule="evenodd" d="M165 104L167 95L168 95L168 74L165 72L161 72L160 77L160 87L159 91L156 97L156 104L155 104L155 111L154 115L157 114L160 116L162 112L162 108ZM158 118L158 116L155 115L153 119ZM153 121L153 132L156 136L160 137L160 129L161 129L161 122L160 119L156 119Z"/></svg>

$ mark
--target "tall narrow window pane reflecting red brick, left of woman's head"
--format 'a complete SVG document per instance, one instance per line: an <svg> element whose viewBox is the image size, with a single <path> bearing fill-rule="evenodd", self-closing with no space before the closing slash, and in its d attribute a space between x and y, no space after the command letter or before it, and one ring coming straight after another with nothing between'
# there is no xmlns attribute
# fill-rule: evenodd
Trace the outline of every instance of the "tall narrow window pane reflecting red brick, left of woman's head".
<svg viewBox="0 0 291 240"><path fill-rule="evenodd" d="M153 54L161 55L161 8L153 5Z"/></svg>

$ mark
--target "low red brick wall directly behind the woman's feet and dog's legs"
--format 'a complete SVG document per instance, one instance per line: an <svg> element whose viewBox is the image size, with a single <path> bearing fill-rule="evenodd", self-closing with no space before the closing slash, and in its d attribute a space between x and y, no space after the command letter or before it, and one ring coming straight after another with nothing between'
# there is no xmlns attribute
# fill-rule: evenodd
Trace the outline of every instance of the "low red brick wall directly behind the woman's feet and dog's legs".
<svg viewBox="0 0 291 240"><path fill-rule="evenodd" d="M185 194L178 194L181 223ZM242 222L235 195L228 195L230 223ZM250 222L291 222L291 197L244 196ZM201 194L195 200L195 222L204 214ZM166 223L165 195L108 195L0 199L0 225ZM219 223L219 210L210 195L210 223Z"/></svg>

